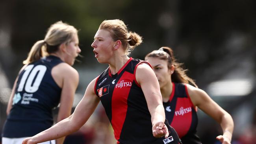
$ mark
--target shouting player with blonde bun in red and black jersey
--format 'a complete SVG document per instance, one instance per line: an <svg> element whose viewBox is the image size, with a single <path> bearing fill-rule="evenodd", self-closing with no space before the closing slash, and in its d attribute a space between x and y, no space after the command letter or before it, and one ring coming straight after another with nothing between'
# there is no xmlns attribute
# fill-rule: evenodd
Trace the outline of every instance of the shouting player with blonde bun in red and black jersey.
<svg viewBox="0 0 256 144"><path fill-rule="evenodd" d="M89 83L69 118L26 138L23 144L36 144L78 130L100 101L117 144L178 144L176 132L164 123L165 112L154 71L145 61L127 56L141 42L141 37L129 32L122 20L104 20L91 46L98 62L108 63L109 67Z"/></svg>

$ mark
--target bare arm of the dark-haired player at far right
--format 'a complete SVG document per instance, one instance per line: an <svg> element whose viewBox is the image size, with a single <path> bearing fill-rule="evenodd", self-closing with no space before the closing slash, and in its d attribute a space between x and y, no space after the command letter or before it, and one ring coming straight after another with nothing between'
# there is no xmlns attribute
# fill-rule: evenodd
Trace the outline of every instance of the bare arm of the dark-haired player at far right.
<svg viewBox="0 0 256 144"><path fill-rule="evenodd" d="M230 144L234 129L234 122L231 115L214 102L204 90L191 85L187 85L187 90L193 104L221 125L223 135L216 137L217 140L221 141L222 144Z"/></svg>

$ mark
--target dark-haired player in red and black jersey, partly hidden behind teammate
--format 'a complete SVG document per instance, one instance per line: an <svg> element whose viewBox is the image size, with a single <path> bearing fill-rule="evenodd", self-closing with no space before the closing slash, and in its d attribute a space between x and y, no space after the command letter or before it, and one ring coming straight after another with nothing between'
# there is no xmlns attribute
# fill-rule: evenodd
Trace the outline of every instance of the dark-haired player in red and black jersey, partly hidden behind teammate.
<svg viewBox="0 0 256 144"><path fill-rule="evenodd" d="M197 88L193 79L186 75L182 64L176 62L171 48L154 50L146 55L145 61L153 67L163 96L165 116L183 144L201 144L196 135L197 107L221 125L223 135L217 136L217 140L230 144L234 129L232 117L206 92Z"/></svg>

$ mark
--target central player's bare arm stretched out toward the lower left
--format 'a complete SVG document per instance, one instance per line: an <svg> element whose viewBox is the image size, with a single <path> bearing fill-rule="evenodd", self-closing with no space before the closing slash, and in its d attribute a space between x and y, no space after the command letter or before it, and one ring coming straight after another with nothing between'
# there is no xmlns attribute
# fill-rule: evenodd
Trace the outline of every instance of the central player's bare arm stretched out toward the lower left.
<svg viewBox="0 0 256 144"><path fill-rule="evenodd" d="M46 129L33 137L25 138L22 144L37 144L48 140L54 140L67 136L80 129L100 102L100 99L94 93L95 81L96 79L89 83L82 100L78 103L73 114L49 129Z"/></svg>

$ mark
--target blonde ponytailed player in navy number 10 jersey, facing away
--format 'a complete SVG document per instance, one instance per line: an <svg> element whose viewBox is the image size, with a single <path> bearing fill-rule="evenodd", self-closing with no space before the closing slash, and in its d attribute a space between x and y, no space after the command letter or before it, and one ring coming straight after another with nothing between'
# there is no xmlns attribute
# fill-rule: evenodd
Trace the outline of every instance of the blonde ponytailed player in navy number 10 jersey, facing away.
<svg viewBox="0 0 256 144"><path fill-rule="evenodd" d="M72 68L81 52L78 42L76 28L59 21L50 26L44 40L33 45L13 85L2 144L21 144L51 127L52 109L59 103L57 122L70 116L79 81ZM55 144L55 140L43 144Z"/></svg>

